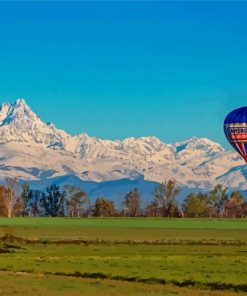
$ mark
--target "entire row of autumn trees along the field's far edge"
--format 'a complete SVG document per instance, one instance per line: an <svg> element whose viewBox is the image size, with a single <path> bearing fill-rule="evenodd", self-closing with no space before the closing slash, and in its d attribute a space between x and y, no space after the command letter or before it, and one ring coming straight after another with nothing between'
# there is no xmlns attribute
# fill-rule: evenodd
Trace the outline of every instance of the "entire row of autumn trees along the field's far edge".
<svg viewBox="0 0 247 296"><path fill-rule="evenodd" d="M128 192L116 207L114 201L98 197L94 203L80 188L48 186L44 191L21 187L16 178L0 185L0 216L49 217L246 217L247 201L239 191L228 192L218 184L208 192L189 193L178 202L181 189L175 180L159 184L152 200L141 202L137 188Z"/></svg>

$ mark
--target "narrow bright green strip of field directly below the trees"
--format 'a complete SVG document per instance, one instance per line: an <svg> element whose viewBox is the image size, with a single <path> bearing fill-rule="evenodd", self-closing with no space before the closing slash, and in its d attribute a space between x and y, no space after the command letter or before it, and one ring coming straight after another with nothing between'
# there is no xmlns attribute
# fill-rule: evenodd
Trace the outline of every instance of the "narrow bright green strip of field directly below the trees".
<svg viewBox="0 0 247 296"><path fill-rule="evenodd" d="M0 218L0 228L15 227L93 227L161 229L243 229L247 219L176 219L176 218Z"/></svg>

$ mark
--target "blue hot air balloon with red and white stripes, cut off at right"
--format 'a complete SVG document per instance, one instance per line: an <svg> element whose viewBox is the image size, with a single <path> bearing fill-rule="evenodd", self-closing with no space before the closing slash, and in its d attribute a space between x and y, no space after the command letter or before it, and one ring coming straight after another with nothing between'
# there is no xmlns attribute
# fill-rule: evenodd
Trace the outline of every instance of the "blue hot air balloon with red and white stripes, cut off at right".
<svg viewBox="0 0 247 296"><path fill-rule="evenodd" d="M226 116L224 132L232 147L247 163L247 107L233 110Z"/></svg>

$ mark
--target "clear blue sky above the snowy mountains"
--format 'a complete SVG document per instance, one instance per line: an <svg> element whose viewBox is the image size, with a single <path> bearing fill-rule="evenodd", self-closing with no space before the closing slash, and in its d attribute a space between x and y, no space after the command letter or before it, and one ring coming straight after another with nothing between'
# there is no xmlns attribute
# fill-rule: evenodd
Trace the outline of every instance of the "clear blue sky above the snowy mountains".
<svg viewBox="0 0 247 296"><path fill-rule="evenodd" d="M0 101L70 133L208 137L247 105L247 3L0 3Z"/></svg>

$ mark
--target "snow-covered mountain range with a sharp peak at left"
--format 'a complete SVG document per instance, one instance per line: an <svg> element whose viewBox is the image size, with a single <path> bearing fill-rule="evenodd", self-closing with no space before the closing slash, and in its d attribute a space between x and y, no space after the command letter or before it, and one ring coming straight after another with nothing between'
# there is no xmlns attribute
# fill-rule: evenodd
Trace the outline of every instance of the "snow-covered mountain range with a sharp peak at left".
<svg viewBox="0 0 247 296"><path fill-rule="evenodd" d="M110 141L85 133L72 136L44 123L23 99L0 107L0 178L6 176L40 184L66 176L77 182L174 178L190 188L223 183L247 189L244 161L209 139L166 144L155 137Z"/></svg>

